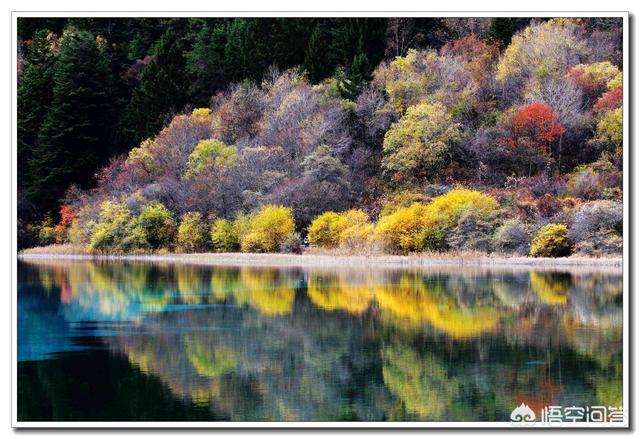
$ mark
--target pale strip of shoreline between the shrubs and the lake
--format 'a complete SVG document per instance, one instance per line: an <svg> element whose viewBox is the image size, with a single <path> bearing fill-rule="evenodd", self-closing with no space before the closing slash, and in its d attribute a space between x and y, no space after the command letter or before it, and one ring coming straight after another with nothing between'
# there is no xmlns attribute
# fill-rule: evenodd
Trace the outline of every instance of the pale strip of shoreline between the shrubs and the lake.
<svg viewBox="0 0 640 439"><path fill-rule="evenodd" d="M132 261L171 262L217 266L256 267L481 267L481 268L614 268L622 270L620 257L570 256L565 258L532 258L478 255L331 255L331 254L282 254L282 253L174 253L150 255L94 255L63 253L18 253L18 259L75 260L75 261Z"/></svg>

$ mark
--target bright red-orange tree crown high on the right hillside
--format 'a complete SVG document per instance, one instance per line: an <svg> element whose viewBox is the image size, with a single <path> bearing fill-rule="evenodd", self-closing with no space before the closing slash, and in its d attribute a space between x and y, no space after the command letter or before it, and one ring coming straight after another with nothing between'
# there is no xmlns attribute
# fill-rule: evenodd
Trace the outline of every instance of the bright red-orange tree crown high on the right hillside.
<svg viewBox="0 0 640 439"><path fill-rule="evenodd" d="M509 130L511 135L500 139L500 143L512 147L533 146L545 150L548 150L551 142L565 131L553 109L544 102L522 107L511 120Z"/></svg>

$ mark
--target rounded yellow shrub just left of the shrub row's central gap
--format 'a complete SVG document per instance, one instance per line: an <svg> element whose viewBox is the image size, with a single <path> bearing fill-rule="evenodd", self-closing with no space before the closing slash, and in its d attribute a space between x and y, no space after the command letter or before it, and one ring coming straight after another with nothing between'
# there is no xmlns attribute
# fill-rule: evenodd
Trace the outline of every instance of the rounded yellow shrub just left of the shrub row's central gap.
<svg viewBox="0 0 640 439"><path fill-rule="evenodd" d="M249 232L242 237L243 252L275 252L296 231L292 210L266 205L251 219Z"/></svg>

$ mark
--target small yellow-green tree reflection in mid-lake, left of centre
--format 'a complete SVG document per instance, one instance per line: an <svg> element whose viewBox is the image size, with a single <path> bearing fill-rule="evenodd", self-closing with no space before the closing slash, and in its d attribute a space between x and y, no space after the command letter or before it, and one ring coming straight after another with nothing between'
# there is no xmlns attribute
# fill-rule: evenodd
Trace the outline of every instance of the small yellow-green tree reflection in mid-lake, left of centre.
<svg viewBox="0 0 640 439"><path fill-rule="evenodd" d="M185 346L189 362L204 377L216 378L236 368L236 353L226 346L201 343L193 337L185 339Z"/></svg>

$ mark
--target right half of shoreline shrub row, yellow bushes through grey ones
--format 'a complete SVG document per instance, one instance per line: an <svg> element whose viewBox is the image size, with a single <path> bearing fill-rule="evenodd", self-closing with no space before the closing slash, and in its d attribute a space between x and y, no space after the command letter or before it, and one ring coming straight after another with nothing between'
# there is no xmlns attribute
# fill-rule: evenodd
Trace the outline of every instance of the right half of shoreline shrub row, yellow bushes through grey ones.
<svg viewBox="0 0 640 439"><path fill-rule="evenodd" d="M556 200L552 196L542 198L549 199L550 204ZM569 207L559 202L557 208L550 209L556 213L572 209L571 214L566 215L570 217L568 225L502 219L507 212L500 209L495 198L458 188L436 196L428 203L405 203L395 209L387 205L375 225L362 211L326 212L309 226L309 240L320 247L348 250L379 246L383 251L395 254L477 250L561 257L574 251L586 254L622 251L620 202L599 200L579 206L574 206L573 202L566 205ZM357 245L352 244L353 237L357 237Z"/></svg>

